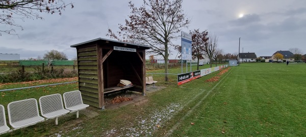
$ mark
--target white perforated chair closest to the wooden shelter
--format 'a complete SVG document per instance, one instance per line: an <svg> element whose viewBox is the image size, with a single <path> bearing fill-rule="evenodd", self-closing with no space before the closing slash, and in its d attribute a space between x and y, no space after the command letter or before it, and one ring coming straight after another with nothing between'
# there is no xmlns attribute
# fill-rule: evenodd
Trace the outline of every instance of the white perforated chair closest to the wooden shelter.
<svg viewBox="0 0 306 137"><path fill-rule="evenodd" d="M79 110L89 107L87 104L83 104L82 95L79 90L69 91L64 93L65 108L72 112L77 112L77 118L79 118Z"/></svg>

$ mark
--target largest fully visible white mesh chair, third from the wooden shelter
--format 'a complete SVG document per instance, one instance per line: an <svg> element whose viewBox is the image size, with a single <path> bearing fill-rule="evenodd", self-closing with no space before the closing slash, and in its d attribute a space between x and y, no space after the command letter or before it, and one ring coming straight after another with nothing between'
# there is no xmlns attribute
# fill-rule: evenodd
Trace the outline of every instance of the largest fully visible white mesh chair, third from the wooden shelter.
<svg viewBox="0 0 306 137"><path fill-rule="evenodd" d="M34 98L10 102L8 105L10 125L19 129L44 121L39 116L37 100Z"/></svg>

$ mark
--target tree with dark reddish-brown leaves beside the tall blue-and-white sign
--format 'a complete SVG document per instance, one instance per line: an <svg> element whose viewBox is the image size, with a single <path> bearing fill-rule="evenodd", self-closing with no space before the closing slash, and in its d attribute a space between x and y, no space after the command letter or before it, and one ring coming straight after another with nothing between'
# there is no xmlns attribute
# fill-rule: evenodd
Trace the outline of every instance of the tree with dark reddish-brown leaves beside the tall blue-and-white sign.
<svg viewBox="0 0 306 137"><path fill-rule="evenodd" d="M190 31L190 35L192 39L192 59L197 59L197 70L199 70L199 60L204 59L204 49L208 45L208 31L204 30L200 32L199 29L194 29L193 31ZM179 53L182 53L181 45L176 45L174 49L179 51ZM182 57L182 55L180 55L179 58L180 57Z"/></svg>

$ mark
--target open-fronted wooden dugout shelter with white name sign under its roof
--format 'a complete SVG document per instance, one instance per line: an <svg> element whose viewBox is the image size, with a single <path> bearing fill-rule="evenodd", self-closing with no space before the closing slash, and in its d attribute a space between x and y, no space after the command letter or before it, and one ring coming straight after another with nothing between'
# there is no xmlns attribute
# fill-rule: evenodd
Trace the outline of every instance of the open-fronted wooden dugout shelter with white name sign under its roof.
<svg viewBox="0 0 306 137"><path fill-rule="evenodd" d="M79 90L85 104L105 109L104 94L126 90L145 94L145 50L148 46L97 38L77 48ZM120 80L132 86L117 87Z"/></svg>

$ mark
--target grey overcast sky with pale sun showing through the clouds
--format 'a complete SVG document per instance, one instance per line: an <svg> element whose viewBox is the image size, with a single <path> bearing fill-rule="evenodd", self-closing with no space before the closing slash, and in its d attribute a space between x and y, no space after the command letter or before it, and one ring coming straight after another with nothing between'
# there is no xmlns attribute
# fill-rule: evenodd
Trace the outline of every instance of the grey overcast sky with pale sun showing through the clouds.
<svg viewBox="0 0 306 137"><path fill-rule="evenodd" d="M132 1L136 6L142 1ZM77 55L70 45L96 38L106 38L108 28L130 15L128 1L74 0L74 8L62 15L41 14L44 20L15 20L24 30L15 28L18 36L3 33L0 53L20 54L21 59L37 58L50 50L64 52L69 59ZM272 56L278 50L299 48L306 54L306 1L304 0L185 0L184 13L191 19L183 31L208 30L219 37L224 53L254 52ZM243 15L243 16L242 16ZM0 24L0 29L10 26ZM180 35L178 33L177 35ZM181 41L174 41L180 44ZM174 59L176 51L170 59Z"/></svg>

